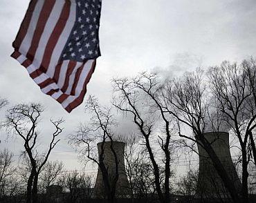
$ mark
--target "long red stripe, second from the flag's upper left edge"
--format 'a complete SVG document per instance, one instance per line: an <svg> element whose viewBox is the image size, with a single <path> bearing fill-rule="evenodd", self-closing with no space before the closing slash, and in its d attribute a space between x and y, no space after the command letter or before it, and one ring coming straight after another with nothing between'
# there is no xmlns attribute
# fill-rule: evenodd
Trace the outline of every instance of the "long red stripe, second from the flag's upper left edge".
<svg viewBox="0 0 256 203"><path fill-rule="evenodd" d="M42 36L42 33L44 32L46 22L48 21L51 11L53 10L54 4L55 0L46 0L44 2L44 6L42 8L42 11L40 12L37 27L35 28L35 33L33 35L30 48L28 50L28 53L26 54L26 57L31 61L34 60L35 52L37 51L40 38Z"/></svg>

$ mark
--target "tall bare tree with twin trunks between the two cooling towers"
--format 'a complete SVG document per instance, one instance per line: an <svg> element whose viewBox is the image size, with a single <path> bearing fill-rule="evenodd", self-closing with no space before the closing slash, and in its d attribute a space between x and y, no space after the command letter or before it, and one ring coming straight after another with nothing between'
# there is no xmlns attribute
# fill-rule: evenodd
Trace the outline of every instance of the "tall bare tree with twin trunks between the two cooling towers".
<svg viewBox="0 0 256 203"><path fill-rule="evenodd" d="M166 114L165 109L158 100L159 83L156 74L143 72L131 79L113 79L114 92L113 105L122 113L133 117L142 135L152 162L154 170L154 183L156 192L161 202L170 202L170 177L171 177L171 135L174 133L172 115ZM161 129L156 126L161 126ZM154 134L154 131L158 133ZM159 132L159 130L161 132ZM165 168L165 180L161 189L161 166L154 151L154 141L158 142L160 151L163 153Z"/></svg>

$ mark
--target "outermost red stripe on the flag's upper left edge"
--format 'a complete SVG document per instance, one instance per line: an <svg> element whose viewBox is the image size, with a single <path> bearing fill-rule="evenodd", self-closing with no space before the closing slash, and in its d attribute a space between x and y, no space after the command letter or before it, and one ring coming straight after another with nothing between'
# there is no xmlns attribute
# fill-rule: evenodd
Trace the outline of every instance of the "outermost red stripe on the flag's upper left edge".
<svg viewBox="0 0 256 203"><path fill-rule="evenodd" d="M19 32L16 36L15 41L13 41L12 43L12 46L15 48L15 50L19 50L19 47L21 46L21 43L24 40L26 33L28 32L28 27L32 19L32 15L35 10L36 4L37 4L37 0L30 1L26 15L21 23L21 27L19 28Z"/></svg>

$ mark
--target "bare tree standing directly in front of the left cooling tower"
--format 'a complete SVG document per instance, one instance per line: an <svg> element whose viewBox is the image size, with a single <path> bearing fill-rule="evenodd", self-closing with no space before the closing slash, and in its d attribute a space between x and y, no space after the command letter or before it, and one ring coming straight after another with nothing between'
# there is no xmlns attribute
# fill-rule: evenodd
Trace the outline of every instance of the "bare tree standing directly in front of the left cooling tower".
<svg viewBox="0 0 256 203"><path fill-rule="evenodd" d="M116 195L116 183L118 182L118 156L113 148L115 135L112 131L113 126L116 126L116 121L111 112L111 108L100 106L95 97L89 97L86 104L86 110L91 113L91 123L88 125L80 125L77 132L69 137L69 143L82 147L81 153L87 158L86 161L91 161L98 165L102 173L104 182L105 195L107 200L113 202ZM104 147L105 142L110 141L111 153L114 157L114 175L109 175L108 166L104 163ZM100 155L97 154L97 142L102 142L100 145Z"/></svg>

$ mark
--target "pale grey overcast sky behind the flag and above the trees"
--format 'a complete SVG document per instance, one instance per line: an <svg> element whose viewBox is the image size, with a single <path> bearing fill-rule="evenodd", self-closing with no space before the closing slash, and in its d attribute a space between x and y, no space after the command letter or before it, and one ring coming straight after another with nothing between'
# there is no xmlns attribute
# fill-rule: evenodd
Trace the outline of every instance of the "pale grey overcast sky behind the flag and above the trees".
<svg viewBox="0 0 256 203"><path fill-rule="evenodd" d="M66 152L72 150L66 144L66 135L86 119L84 104L71 114L66 113L60 104L39 90L23 66L10 58L12 41L28 3L28 0L0 1L0 97L9 99L10 105L41 102L46 107L44 118L64 117L62 142L51 160L62 160L69 169L80 168L76 154ZM196 66L255 57L255 19L255 0L103 0L102 57L98 58L85 101L93 94L102 104L108 104L113 77L136 75L142 70L179 75ZM42 128L42 144L48 142L51 131L50 127ZM5 134L1 132L1 139ZM21 142L11 140L1 142L0 149L8 147L19 154Z"/></svg>

